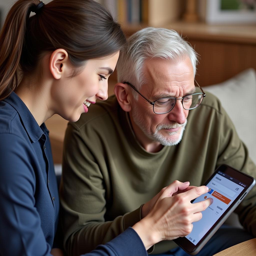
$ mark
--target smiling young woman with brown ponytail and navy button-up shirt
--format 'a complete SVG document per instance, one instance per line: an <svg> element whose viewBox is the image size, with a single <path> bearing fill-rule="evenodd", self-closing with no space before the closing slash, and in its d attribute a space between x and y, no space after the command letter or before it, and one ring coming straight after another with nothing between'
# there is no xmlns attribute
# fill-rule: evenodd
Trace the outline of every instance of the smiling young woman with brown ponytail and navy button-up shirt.
<svg viewBox="0 0 256 256"><path fill-rule="evenodd" d="M56 113L77 121L105 100L125 43L120 25L92 0L19 0L10 9L0 35L1 255L62 255L44 122ZM174 230L168 207L170 196L187 187L175 182L163 189L147 203L145 218L87 255L147 255L154 243L184 236L196 217Z"/></svg>

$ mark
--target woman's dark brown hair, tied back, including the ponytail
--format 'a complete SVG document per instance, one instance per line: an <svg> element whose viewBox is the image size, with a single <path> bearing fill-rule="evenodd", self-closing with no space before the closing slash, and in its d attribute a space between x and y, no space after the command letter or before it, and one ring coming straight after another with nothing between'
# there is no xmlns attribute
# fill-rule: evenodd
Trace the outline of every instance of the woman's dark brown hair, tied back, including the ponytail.
<svg viewBox="0 0 256 256"><path fill-rule="evenodd" d="M0 35L0 100L18 86L18 70L36 70L40 56L62 48L74 67L121 50L126 39L119 23L93 0L53 0L31 12L39 0L18 0Z"/></svg>

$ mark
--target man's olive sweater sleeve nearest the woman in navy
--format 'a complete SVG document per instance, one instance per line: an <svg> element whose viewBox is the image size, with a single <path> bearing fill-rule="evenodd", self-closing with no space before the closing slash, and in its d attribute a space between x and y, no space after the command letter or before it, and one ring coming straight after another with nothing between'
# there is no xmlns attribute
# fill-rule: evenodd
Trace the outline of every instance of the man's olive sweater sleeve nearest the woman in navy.
<svg viewBox="0 0 256 256"><path fill-rule="evenodd" d="M142 206L114 220L105 221L106 209L111 204L108 202L106 205L105 182L110 178L101 173L97 156L91 152L75 124L69 124L64 141L60 185L64 247L69 255L90 252L141 220Z"/></svg>

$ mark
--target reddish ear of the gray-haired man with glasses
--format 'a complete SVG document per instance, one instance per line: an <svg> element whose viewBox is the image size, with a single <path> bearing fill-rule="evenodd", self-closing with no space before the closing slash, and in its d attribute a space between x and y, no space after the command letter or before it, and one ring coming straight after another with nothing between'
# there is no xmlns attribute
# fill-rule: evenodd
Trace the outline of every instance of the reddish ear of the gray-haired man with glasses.
<svg viewBox="0 0 256 256"><path fill-rule="evenodd" d="M129 85L124 83L117 83L114 88L114 93L121 108L126 112L130 112L132 109L132 92Z"/></svg>

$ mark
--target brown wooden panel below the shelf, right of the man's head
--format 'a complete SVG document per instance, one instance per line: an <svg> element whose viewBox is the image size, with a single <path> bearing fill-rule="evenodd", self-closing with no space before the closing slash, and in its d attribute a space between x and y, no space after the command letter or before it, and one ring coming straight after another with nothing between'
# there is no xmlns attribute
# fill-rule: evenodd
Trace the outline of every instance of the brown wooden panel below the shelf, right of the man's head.
<svg viewBox="0 0 256 256"><path fill-rule="evenodd" d="M196 80L201 86L225 81L239 72L256 69L256 46L227 42L189 40L200 55Z"/></svg>

